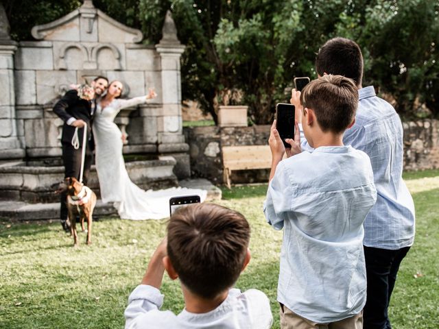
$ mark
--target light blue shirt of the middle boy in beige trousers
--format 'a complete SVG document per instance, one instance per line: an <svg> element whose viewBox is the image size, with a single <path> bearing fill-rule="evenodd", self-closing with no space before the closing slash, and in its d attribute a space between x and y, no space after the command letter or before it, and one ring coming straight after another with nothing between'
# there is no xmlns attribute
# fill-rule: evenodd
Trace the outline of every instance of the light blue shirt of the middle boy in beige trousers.
<svg viewBox="0 0 439 329"><path fill-rule="evenodd" d="M358 314L366 303L363 222L377 191L368 156L318 147L279 162L264 213L284 229L278 301L318 323Z"/></svg>

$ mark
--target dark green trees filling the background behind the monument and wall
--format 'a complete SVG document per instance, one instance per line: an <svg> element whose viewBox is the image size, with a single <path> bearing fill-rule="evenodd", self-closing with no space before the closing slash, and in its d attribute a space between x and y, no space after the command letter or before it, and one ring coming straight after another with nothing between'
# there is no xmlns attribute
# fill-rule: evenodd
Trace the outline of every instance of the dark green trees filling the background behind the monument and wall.
<svg viewBox="0 0 439 329"><path fill-rule="evenodd" d="M36 24L78 8L80 0L1 0L12 37L29 40ZM250 120L269 123L289 99L295 76L316 77L318 48L329 38L356 40L364 85L394 99L403 116L439 115L439 3L436 0L94 0L97 8L139 28L145 43L161 39L171 10L182 55L182 98L213 118L227 90L244 93ZM44 12L44 15L40 13ZM425 104L428 110L425 109Z"/></svg>

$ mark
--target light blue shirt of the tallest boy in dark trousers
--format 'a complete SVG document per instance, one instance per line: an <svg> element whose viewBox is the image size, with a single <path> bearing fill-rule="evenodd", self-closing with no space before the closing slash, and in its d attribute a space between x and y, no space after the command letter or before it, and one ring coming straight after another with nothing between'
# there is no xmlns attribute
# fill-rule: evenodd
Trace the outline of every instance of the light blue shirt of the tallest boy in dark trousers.
<svg viewBox="0 0 439 329"><path fill-rule="evenodd" d="M401 249L413 244L415 215L403 172L403 127L394 108L375 95L373 86L358 90L355 125L344 133L344 145L370 158L378 191L377 204L364 222L364 245ZM302 149L312 151L301 134Z"/></svg>

